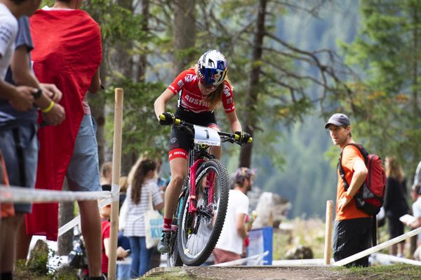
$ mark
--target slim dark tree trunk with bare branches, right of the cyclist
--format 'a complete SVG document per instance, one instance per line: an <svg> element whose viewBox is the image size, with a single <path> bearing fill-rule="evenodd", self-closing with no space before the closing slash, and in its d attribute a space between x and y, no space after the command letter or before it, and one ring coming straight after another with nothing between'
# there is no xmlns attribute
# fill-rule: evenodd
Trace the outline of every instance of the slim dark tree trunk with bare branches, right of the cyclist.
<svg viewBox="0 0 421 280"><path fill-rule="evenodd" d="M267 0L259 1L258 9L258 20L257 28L255 31L255 38L253 41L253 56L251 60L251 71L248 76L247 85L247 101L248 112L243 115L243 130L248 132L252 137L254 135L255 127L258 123L257 110L258 110L258 94L259 94L259 76L260 76L260 64L256 63L262 59L262 44L265 36L265 15L266 15L266 4ZM250 167L251 165L251 153L253 144L246 144L241 148L239 167Z"/></svg>

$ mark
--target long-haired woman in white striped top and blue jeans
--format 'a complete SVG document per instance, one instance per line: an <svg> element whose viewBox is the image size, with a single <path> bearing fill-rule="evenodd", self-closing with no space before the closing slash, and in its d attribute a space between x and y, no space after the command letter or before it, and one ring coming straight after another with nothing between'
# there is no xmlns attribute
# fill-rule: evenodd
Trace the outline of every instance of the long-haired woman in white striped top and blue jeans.
<svg viewBox="0 0 421 280"><path fill-rule="evenodd" d="M131 277L138 277L149 270L153 251L153 248L146 248L143 218L149 207L149 193L152 193L152 204L156 209L163 209L163 200L156 185L156 162L145 159L133 169L133 180L127 190L124 236L129 238L132 251Z"/></svg>

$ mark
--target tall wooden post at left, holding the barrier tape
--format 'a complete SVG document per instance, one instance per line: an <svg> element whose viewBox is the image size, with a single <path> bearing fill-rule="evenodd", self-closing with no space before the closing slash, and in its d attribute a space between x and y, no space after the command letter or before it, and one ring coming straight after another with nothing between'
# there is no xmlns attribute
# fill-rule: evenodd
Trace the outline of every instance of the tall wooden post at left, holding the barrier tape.
<svg viewBox="0 0 421 280"><path fill-rule="evenodd" d="M116 279L117 261L117 234L119 229L119 193L120 193L120 167L121 167L121 132L123 123L123 89L115 90L114 106L114 144L112 149L112 204L109 232L109 258L108 279Z"/></svg>

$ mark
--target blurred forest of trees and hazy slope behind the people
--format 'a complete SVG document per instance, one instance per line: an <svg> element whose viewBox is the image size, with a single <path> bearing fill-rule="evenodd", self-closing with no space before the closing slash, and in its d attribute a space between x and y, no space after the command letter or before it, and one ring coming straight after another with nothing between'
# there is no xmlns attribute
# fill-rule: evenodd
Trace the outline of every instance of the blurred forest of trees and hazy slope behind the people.
<svg viewBox="0 0 421 280"><path fill-rule="evenodd" d="M88 0L83 8L102 30L105 91L89 96L100 162L111 159L114 87L124 89L122 175L141 153L166 161L170 129L156 120L154 100L215 48L254 138L225 145L223 161L229 172L256 168L255 185L290 200L290 217L323 216L335 200L340 151L323 128L331 113L347 113L371 153L398 157L412 183L421 160L421 1Z"/></svg>

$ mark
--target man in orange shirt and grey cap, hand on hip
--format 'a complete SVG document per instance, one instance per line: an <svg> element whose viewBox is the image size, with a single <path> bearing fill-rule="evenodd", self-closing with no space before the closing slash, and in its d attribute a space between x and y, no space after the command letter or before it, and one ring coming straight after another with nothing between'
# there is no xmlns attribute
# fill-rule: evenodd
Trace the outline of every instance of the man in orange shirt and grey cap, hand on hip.
<svg viewBox="0 0 421 280"><path fill-rule="evenodd" d="M366 180L368 169L364 157L353 144L351 122L342 113L335 113L325 125L333 144L342 150L342 168L349 188L338 170L336 194L336 218L333 232L333 258L335 261L347 258L371 247L373 231L372 217L356 208L354 195ZM348 266L368 267L368 256L351 262Z"/></svg>

